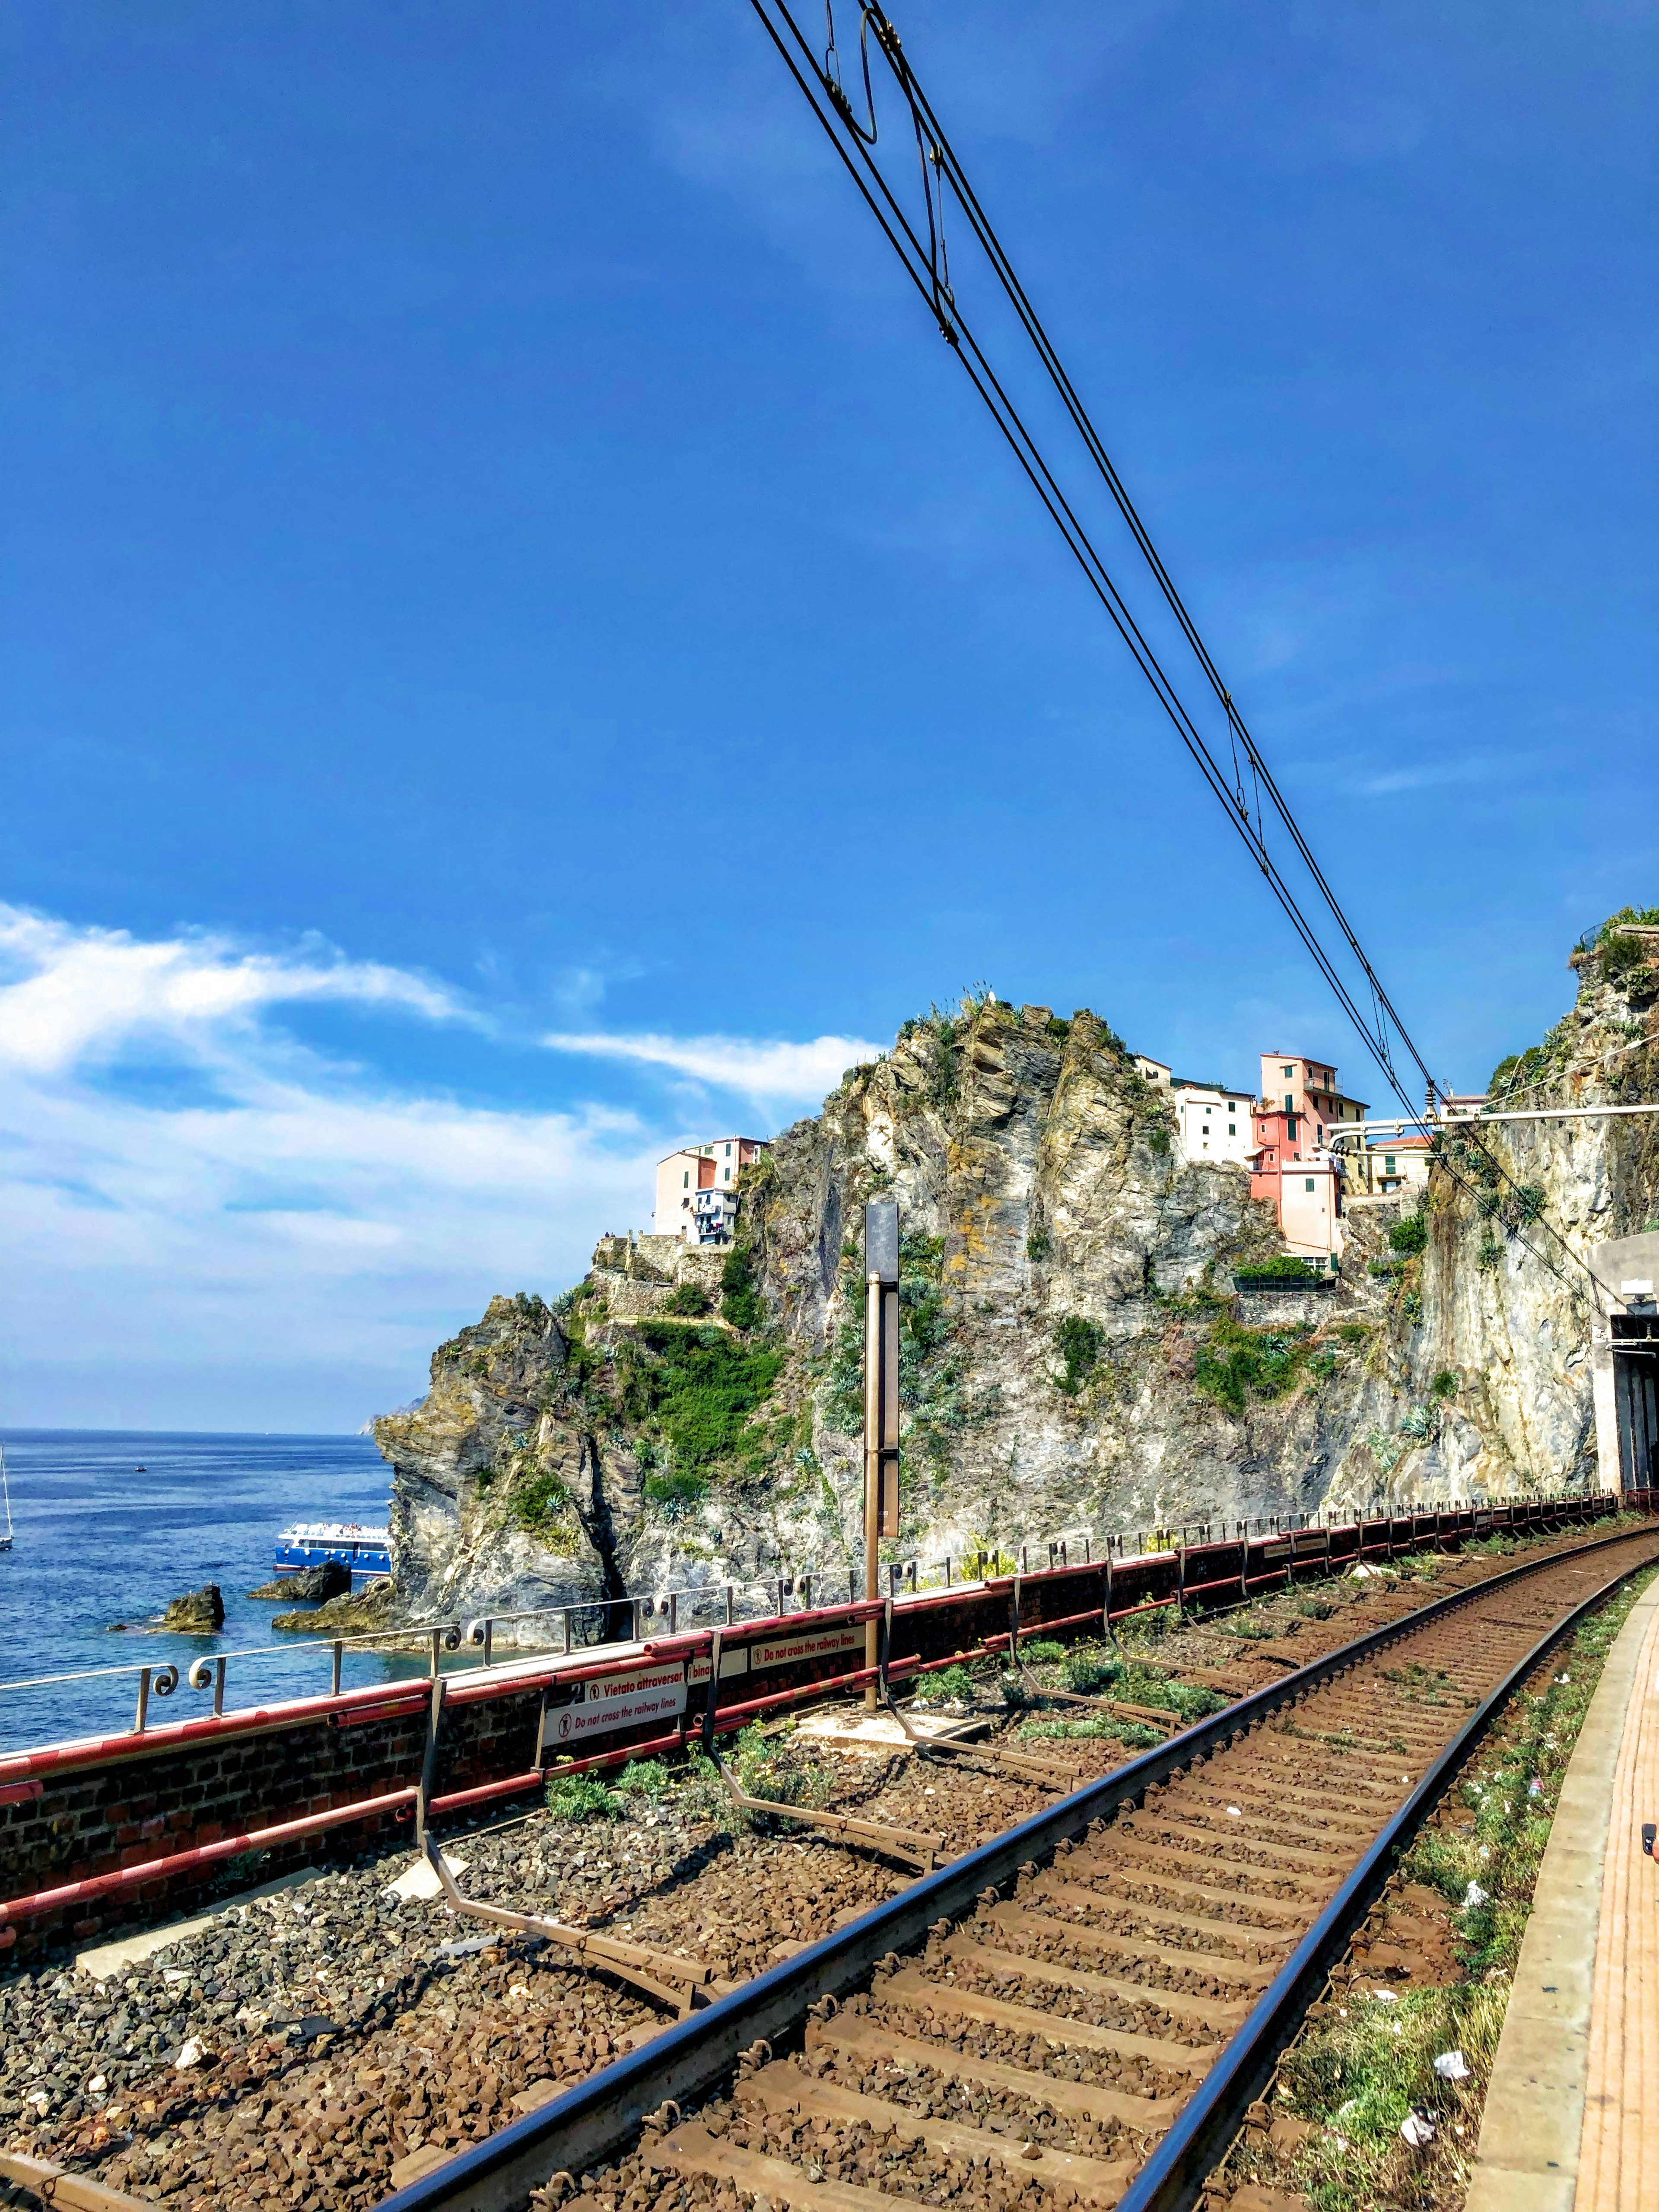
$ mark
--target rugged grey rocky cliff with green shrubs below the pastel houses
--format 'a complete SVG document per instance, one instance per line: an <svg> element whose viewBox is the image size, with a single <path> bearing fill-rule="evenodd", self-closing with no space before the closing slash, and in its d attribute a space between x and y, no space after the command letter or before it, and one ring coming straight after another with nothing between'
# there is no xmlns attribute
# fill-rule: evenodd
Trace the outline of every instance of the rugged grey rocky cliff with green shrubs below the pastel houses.
<svg viewBox="0 0 1659 2212"><path fill-rule="evenodd" d="M1590 958L1575 1013L1506 1082L1542 1104L1652 1097L1652 1042L1630 1048L1652 982ZM398 1599L845 1573L872 1197L905 1230L898 1557L1584 1478L1588 1285L1526 1217L1573 1243L1641 1228L1657 1144L1648 1121L1460 1139L1420 1225L1416 1201L1349 1210L1334 1294L1239 1298L1232 1270L1279 1250L1272 1210L1241 1168L1183 1161L1104 1022L933 1013L776 1139L732 1252L606 1239L553 1307L495 1298L440 1347L427 1400L376 1422Z"/></svg>

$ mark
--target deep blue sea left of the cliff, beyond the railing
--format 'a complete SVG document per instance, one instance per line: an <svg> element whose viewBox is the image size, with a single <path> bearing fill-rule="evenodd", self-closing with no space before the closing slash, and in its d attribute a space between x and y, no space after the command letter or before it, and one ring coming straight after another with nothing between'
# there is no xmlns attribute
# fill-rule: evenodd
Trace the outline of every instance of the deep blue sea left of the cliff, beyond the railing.
<svg viewBox="0 0 1659 2212"><path fill-rule="evenodd" d="M212 1712L186 1679L201 1655L230 1655L226 1710L327 1690L327 1648L272 1630L283 1604L248 1593L290 1522L385 1526L392 1469L372 1438L0 1429L0 1449L15 1528L0 1551L0 1754L128 1730L142 1666L179 1670L150 1725ZM223 1593L223 1635L137 1632L204 1582ZM115 1621L133 1626L111 1635ZM343 1681L418 1672L414 1655L347 1652Z"/></svg>

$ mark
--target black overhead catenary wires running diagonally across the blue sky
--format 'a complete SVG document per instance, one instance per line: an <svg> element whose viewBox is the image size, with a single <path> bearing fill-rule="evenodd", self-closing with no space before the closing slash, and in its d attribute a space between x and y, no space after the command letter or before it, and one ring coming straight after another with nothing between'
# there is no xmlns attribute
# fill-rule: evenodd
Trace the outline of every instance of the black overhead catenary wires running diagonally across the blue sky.
<svg viewBox="0 0 1659 2212"><path fill-rule="evenodd" d="M995 425L1002 431L1004 440L1009 442L1009 447L1011 447L1015 460L1020 462L1026 480L1031 482L1031 487L1035 489L1035 493L1042 500L1044 509L1048 511L1048 518L1055 522L1055 526L1060 529L1060 535L1066 540L1066 546L1068 546L1073 560L1084 571L1084 577L1088 580L1091 588L1095 591L1095 595L1104 604L1104 608L1106 608L1113 626L1117 628L1119 637L1124 639L1124 644L1128 646L1130 655L1135 657L1141 675L1146 677L1148 686L1152 688L1155 697L1159 699L1159 706L1164 708L1164 712L1172 721L1177 734L1181 737L1181 743L1186 745L1188 754L1192 757L1194 765L1199 768L1203 781L1210 785L1210 790L1214 792L1214 796L1221 801L1221 805L1223 805L1228 818L1232 821L1237 834L1241 836L1241 841L1250 849L1250 856L1254 858L1254 863L1261 869L1261 874L1267 878L1267 887L1272 889L1274 898L1279 900L1279 905L1281 905L1285 918L1290 920L1292 929L1301 938L1305 951L1310 953L1310 958L1318 967L1321 975L1329 984L1334 998L1338 1000L1338 1004L1347 1013L1347 1018L1354 1024L1354 1029L1365 1040L1367 1051L1371 1053L1371 1057L1376 1060L1378 1068L1383 1071L1389 1088L1407 1106L1407 1110L1411 1110L1411 1102L1409 1102L1407 1088L1405 1088L1405 1084L1400 1079L1398 1068L1394 1066L1394 1053L1391 1053L1391 1044L1389 1044L1389 1031L1391 1031L1400 1040L1400 1044L1407 1048L1407 1053L1411 1055L1418 1073L1422 1075L1422 1082L1427 1086L1429 1099L1433 1102L1433 1097L1438 1093L1442 1093L1444 1086L1436 1084L1433 1075L1429 1073L1427 1062L1422 1060L1416 1042L1411 1040L1411 1033L1407 1031L1405 1022L1400 1020L1400 1013L1394 1006L1394 1002L1391 1002L1391 998L1389 998L1383 980L1378 978L1376 969L1371 967L1369 958L1365 956L1365 949L1363 949L1363 945L1358 940L1358 933L1354 931L1347 914L1343 911L1343 907L1340 907L1340 902L1336 898L1336 891L1332 889L1329 880L1325 878L1325 872L1321 869L1321 865L1318 865L1318 860L1316 860L1316 856L1314 856L1314 852L1312 852L1312 847L1310 847L1310 843L1307 843L1307 838L1305 838L1305 834L1303 834L1303 830L1301 830L1301 825L1298 825L1298 821L1296 821L1290 803L1285 801L1283 792L1279 790L1279 783L1272 776L1272 770L1267 768L1267 763L1265 763L1265 759L1263 759L1263 754L1261 754L1254 737L1250 734L1250 730L1248 730L1248 726L1245 726L1239 708L1234 706L1228 686L1221 681L1221 675L1219 675L1219 670L1217 670L1217 666L1214 666L1214 661L1212 661L1212 657L1210 657L1210 653L1208 653L1208 648L1206 648L1206 644L1203 644L1203 639L1201 639L1201 635L1197 630L1197 624L1192 622L1192 617L1190 617L1190 613L1186 608L1186 602L1177 593L1175 582L1170 580L1168 568L1164 566L1164 560L1159 557L1157 546L1150 540L1150 533L1146 531L1146 524L1141 522L1141 518L1139 518L1133 500L1128 498L1128 491L1121 484L1121 478L1117 476L1117 469L1113 467L1113 460L1106 453L1106 447L1104 447L1099 434L1095 431L1095 425L1088 418L1088 411L1084 409L1084 405L1082 405L1082 400L1079 400L1079 396L1077 396L1077 392L1075 392L1075 387L1073 387L1073 383L1071 383L1071 378L1068 378L1068 374L1064 369L1064 363L1060 361L1060 354L1055 352L1055 347L1053 347L1046 330L1042 327L1035 310L1031 307L1031 301L1029 301L1029 296L1026 296L1026 292L1024 292L1024 288L1022 288L1015 270L1013 270L1013 263L1011 263L1006 250L1002 248L995 230L991 228L989 219L984 217L984 210L982 210L982 206L978 201L978 195L973 192L971 181L967 179L967 173L962 170L962 164L958 161L956 153L951 150L949 139L947 139L945 131L940 128L938 117L936 117L931 104L927 102L927 95L920 91L920 84L916 82L916 73L911 71L911 66L909 66L909 62L907 62L907 58L902 53L902 42L898 38L898 31L891 27L891 22L887 20L887 15L883 13L880 7L876 7L876 4L860 7L860 58L865 62L865 88L869 93L867 31L874 24L874 29L876 29L876 42L878 42L878 46L880 46L887 64L894 71L894 77L896 77L896 82L900 86L900 93L905 95L905 100L907 100L907 104L911 108L911 117L914 117L914 124L916 124L916 144L918 144L918 150L922 155L922 192L925 192L925 201L927 201L927 234L929 234L929 243L927 246L922 246L916 228L911 226L911 221L905 215L905 210L900 208L894 190L889 188L887 177L883 175L880 166L872 157L869 148L876 144L876 106L874 106L874 95L869 97L872 126L869 126L869 131L865 131L865 126L858 124L856 117L852 115L849 102L847 102L845 93L841 91L838 77L832 77L818 64L818 60L816 60L810 42L805 40L801 27L796 24L794 15L790 13L787 0L750 0L750 4L754 7L754 13L761 20L768 38L776 46L776 51L779 51L785 69L794 77L801 95L805 97L807 106L816 115L816 119L818 119L825 137L834 146L841 164L845 166L847 175L852 177L858 195L863 197L863 201L869 208L869 212L876 217L876 223L880 226L883 234L887 237L887 243L894 248L898 261L902 263L902 268L909 274L911 283L916 285L918 294L927 301L929 312L933 314L940 334L947 338L947 343L956 352L958 361L962 363L969 380L973 383L973 387L980 394L987 411L991 414L991 418L995 420ZM827 18L827 29L830 29L830 46L827 46L825 60L830 60L834 55L834 13L832 13L832 7L830 7L830 0L825 4L825 18ZM823 97L818 97L818 95L823 95ZM847 139L836 128L836 119L841 119L847 126L852 144L847 144ZM938 212L938 219L936 219L936 208L933 208L933 190L931 190L929 175L927 175L927 170L929 170L929 150L927 150L925 142L931 142L933 168L936 168L936 177L940 179L940 212ZM1234 770L1232 785L1228 783L1225 770L1223 770L1221 761L1214 757L1214 752L1210 750L1210 743L1206 741L1203 732L1199 730L1194 717L1188 712L1186 701L1177 692L1175 681L1170 679L1168 670L1159 661L1159 657L1157 657L1155 648L1150 646L1150 641L1146 639L1141 626L1135 622L1135 615L1130 613L1126 599L1121 597L1121 593L1119 593L1119 588L1117 588L1110 571L1106 568L1104 557L1099 555L1099 551L1093 544L1088 531L1084 529L1082 520L1077 518L1077 513L1073 509L1073 502L1062 491L1062 487L1060 487L1057 478L1053 476L1053 471L1051 471L1051 467L1048 467L1048 462L1046 462L1046 458L1044 458L1044 453L1042 453L1035 436L1031 434L1031 429L1022 420L1018 407L1009 398L1002 380L998 378L998 374L991 367L987 354L982 352L982 347L980 347L980 343L978 343L978 338L975 338L975 334L973 334L967 316L962 314L960 301L956 299L956 292L949 285L949 276L947 276L947 272L940 265L940 254L942 254L942 181L949 181L951 190L956 192L956 199L962 206L964 217L967 217L967 221L969 221L975 239L980 241L982 250L987 252L987 259L991 261L991 265L993 265L993 270L998 274L998 281L1002 283L1002 290L1006 292L1009 301L1013 303L1015 314L1020 316L1022 327L1026 330L1031 343L1035 345L1040 358L1044 361L1044 367L1046 367L1051 380L1055 383L1055 389L1060 392L1062 403L1064 403L1064 407L1066 407L1073 425L1077 427L1079 436L1084 438L1084 445L1086 445L1086 449L1091 453L1091 460L1095 462L1097 471L1106 480L1106 487L1108 487L1108 491L1113 495L1113 502L1117 504L1119 513L1124 515L1124 520L1126 520L1126 524L1128 524L1133 538L1135 538L1135 544L1139 546L1144 560L1152 568L1152 575L1155 575L1155 580L1159 584L1159 591L1161 591L1166 604L1175 613L1175 619L1181 626L1183 637L1188 639L1194 657L1199 659L1199 666L1206 672L1208 684L1212 686L1217 699L1223 706L1223 714L1225 714L1225 721L1228 721L1230 752L1232 752L1232 770ZM1243 779L1239 774L1239 745L1243 745L1245 761L1250 765L1252 790L1256 794L1254 805L1250 801L1245 801L1245 796L1243 796ZM1338 927L1343 940L1347 942L1354 960L1358 962L1358 967L1360 967L1360 971L1365 975L1367 993L1369 993L1371 1004L1376 1009L1374 1020L1367 1020L1365 1013L1360 1011L1360 1004L1356 1002L1352 989L1347 987L1347 980L1343 978L1343 973L1338 971L1338 967L1332 960L1329 951L1321 942L1318 931L1314 929L1314 925L1310 922L1310 918L1303 914L1303 907L1301 907L1294 889L1290 887L1290 883L1281 874L1279 863L1274 860L1274 856L1272 856L1272 852L1267 847L1265 827L1263 827L1263 818L1261 818L1261 792L1263 790L1267 792L1267 799L1272 803L1272 812L1276 814L1276 818L1281 821L1285 834L1290 836L1290 841L1292 841L1292 845L1296 849L1296 856L1307 867L1314 885L1318 887L1325 905L1332 911L1332 918L1336 920L1336 927ZM1469 1139L1464 1139L1464 1141L1469 1141ZM1473 1144L1480 1150L1480 1155L1486 1161L1486 1166L1493 1172L1493 1177L1498 1181L1506 1183L1511 1190L1520 1192L1522 1186L1515 1183L1513 1175L1509 1175L1509 1170L1502 1166L1502 1161L1498 1161L1491 1155L1491 1150L1484 1144L1480 1144L1480 1139L1473 1139ZM1444 1150L1442 1150L1442 1164L1447 1166L1451 1179L1460 1188L1471 1190L1469 1181L1462 1175L1458 1175L1455 1166L1444 1157ZM1528 1197L1531 1197L1531 1192L1528 1192ZM1584 1259L1573 1250L1571 1241L1562 1234L1562 1230L1557 1230L1555 1223L1548 1221L1542 1214L1533 1214L1531 1219L1537 1221L1537 1225L1542 1225L1555 1239L1555 1243L1582 1270L1582 1274L1590 1283L1595 1283L1593 1272L1586 1267ZM1511 1225L1511 1230L1517 1237L1517 1241L1522 1243L1522 1248L1526 1252L1531 1252L1531 1256L1537 1259L1540 1265L1544 1265L1551 1274L1559 1274L1559 1270L1551 1265L1551 1261L1520 1232L1517 1225Z"/></svg>

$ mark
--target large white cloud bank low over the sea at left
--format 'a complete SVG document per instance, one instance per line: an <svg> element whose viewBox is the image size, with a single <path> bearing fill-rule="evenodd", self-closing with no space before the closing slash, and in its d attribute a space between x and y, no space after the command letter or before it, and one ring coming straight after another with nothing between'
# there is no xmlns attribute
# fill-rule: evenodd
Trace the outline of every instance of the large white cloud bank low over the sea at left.
<svg viewBox="0 0 1659 2212"><path fill-rule="evenodd" d="M11 1422L356 1427L491 1292L557 1292L646 1225L639 1117L411 1095L276 1020L478 1020L425 978L15 909L0 960Z"/></svg>

